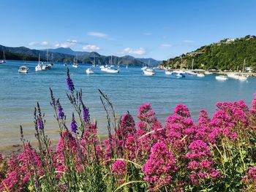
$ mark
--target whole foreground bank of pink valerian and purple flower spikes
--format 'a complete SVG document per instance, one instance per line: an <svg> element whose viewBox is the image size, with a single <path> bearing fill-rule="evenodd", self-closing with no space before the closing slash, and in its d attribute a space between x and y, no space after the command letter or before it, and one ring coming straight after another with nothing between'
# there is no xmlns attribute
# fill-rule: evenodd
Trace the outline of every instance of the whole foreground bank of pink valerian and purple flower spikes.
<svg viewBox="0 0 256 192"><path fill-rule="evenodd" d="M74 107L70 126L50 89L50 104L60 139L56 150L45 134L39 104L34 110L35 150L23 137L23 152L0 155L0 191L253 191L256 187L256 95L217 103L213 118L201 110L197 123L183 104L165 126L150 104L138 110L138 123L127 112L119 119L104 93L108 138L100 140L82 91L67 70L67 97Z"/></svg>

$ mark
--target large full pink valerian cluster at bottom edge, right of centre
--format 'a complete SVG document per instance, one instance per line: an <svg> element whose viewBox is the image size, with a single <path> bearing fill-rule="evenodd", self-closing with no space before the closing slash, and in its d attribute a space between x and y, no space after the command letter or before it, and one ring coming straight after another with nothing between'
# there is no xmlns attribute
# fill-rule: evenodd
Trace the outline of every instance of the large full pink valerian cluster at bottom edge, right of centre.
<svg viewBox="0 0 256 192"><path fill-rule="evenodd" d="M142 170L145 174L144 180L150 183L150 188L153 191L170 183L177 167L176 159L165 142L157 142L151 148L151 155Z"/></svg>

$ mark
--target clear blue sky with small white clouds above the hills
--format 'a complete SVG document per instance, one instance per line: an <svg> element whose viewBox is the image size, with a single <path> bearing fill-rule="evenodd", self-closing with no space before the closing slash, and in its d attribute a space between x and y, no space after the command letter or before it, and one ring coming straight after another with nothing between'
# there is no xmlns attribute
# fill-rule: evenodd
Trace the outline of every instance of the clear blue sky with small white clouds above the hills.
<svg viewBox="0 0 256 192"><path fill-rule="evenodd" d="M255 0L0 0L0 45L166 60L256 35Z"/></svg>

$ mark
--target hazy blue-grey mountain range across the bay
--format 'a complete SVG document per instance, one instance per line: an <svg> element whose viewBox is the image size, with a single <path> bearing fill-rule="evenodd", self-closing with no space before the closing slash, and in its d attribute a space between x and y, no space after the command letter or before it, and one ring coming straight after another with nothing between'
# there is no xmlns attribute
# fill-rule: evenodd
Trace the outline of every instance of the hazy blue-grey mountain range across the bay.
<svg viewBox="0 0 256 192"><path fill-rule="evenodd" d="M41 61L47 60L47 50L34 50L27 47L5 47L0 45L0 59L2 57L2 51L5 52L7 60L21 60L21 61L37 61L38 55L40 55ZM111 56L99 55L97 52L75 51L71 48L59 47L56 49L48 49L49 60L54 62L67 61L72 63L76 55L78 55L78 62L83 64L110 64ZM157 61L154 58L135 58L130 55L123 57L112 57L113 64L129 65L129 66L143 66L148 64L150 66L158 66L162 61Z"/></svg>

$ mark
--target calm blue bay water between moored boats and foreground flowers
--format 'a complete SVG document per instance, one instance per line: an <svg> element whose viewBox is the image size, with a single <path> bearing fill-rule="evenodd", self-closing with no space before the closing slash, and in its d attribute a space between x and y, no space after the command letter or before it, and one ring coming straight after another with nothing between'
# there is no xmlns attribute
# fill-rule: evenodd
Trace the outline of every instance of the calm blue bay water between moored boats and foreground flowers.
<svg viewBox="0 0 256 192"><path fill-rule="evenodd" d="M54 96L60 98L68 119L72 112L66 96L66 66L55 64L50 70L35 72L37 63L27 62L29 73L19 74L21 65L22 61L7 61L0 65L0 150L20 143L20 125L24 128L26 139L34 140L33 114L37 101L45 112L45 130L50 138L59 138L49 104L49 87L53 89ZM74 69L69 66L69 69L75 88L83 89L83 99L90 109L91 119L98 122L100 134L106 134L107 128L98 89L109 96L118 115L128 110L135 117L140 104L148 102L162 122L179 103L186 104L196 120L200 109L206 109L209 115L213 115L217 101L244 99L246 104L250 104L256 92L256 78L253 77L249 77L247 82L219 82L215 80L215 75L176 78L159 70L154 77L145 77L140 67L121 68L119 74L107 74L96 68L94 74L87 75L87 67L80 65L80 68Z"/></svg>

